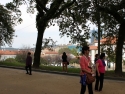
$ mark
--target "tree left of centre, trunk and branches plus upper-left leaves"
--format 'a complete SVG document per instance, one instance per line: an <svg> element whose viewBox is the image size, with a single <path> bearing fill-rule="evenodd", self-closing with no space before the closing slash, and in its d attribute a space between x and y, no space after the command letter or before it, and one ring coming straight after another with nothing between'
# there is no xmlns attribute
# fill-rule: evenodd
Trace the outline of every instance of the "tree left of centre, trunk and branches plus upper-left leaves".
<svg viewBox="0 0 125 94"><path fill-rule="evenodd" d="M34 53L33 66L38 68L40 64L40 54L43 34L47 26L52 25L54 19L57 19L60 14L71 6L76 0L13 0L16 6L29 4L28 12L33 13L34 8L37 9L36 27L38 30L36 49ZM34 4L35 3L35 4ZM34 7L34 5L36 5ZM54 23L55 24L55 23ZM54 25L53 24L53 25Z"/></svg>

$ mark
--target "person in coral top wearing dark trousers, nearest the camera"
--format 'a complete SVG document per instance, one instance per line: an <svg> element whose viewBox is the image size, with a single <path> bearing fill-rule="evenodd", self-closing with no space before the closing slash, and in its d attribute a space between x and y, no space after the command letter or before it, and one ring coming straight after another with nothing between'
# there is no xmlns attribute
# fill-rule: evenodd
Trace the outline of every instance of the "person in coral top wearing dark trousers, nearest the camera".
<svg viewBox="0 0 125 94"><path fill-rule="evenodd" d="M80 57L80 83L81 83L81 91L80 94L85 94L86 85L88 85L89 94L93 94L92 83L86 84L86 73L93 74L92 69L90 68L90 57L89 57L89 47L82 47L82 56Z"/></svg>

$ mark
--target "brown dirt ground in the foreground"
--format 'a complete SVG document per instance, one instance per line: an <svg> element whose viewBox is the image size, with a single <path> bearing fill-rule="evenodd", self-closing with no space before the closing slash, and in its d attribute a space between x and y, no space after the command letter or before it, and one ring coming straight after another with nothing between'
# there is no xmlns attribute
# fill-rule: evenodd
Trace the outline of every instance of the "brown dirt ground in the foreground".
<svg viewBox="0 0 125 94"><path fill-rule="evenodd" d="M34 71L28 75L25 70L0 68L0 94L80 94L79 80L77 76ZM125 82L105 80L103 91L94 94L125 94Z"/></svg>

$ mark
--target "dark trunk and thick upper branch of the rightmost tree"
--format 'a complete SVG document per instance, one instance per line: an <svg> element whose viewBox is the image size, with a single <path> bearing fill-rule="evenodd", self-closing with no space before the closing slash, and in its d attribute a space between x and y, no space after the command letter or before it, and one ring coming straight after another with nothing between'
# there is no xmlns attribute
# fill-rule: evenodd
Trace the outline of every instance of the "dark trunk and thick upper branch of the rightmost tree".
<svg viewBox="0 0 125 94"><path fill-rule="evenodd" d="M105 5L107 4L107 5ZM102 13L105 13L107 17L109 17L108 21L114 22L113 25L109 25L110 29L116 28L116 34L115 37L117 37L116 42L116 68L115 72L116 74L121 75L122 74L122 50L123 50L123 44L125 41L125 0L118 0L114 1L111 0L110 3L102 2L101 5L97 6L98 10ZM112 18L112 19L111 19ZM110 30L109 32L112 32L114 29Z"/></svg>

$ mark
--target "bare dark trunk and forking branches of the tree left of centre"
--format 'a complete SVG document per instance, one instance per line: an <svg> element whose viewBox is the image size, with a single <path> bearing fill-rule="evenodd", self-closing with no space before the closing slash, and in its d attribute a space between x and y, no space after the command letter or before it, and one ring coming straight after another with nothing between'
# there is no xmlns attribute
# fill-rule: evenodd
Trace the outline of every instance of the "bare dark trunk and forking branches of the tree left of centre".
<svg viewBox="0 0 125 94"><path fill-rule="evenodd" d="M75 0L73 0L72 2L64 2L64 0L41 0L41 1L35 0L35 1L36 1L36 9L38 11L36 17L38 37L36 43L36 50L34 54L34 67L38 67L39 57L41 53L41 45L42 45L41 39L43 38L45 28L49 26L49 22L51 25L51 21L53 22L53 19L57 18L63 12L63 10L72 5ZM49 1L51 1L50 7L46 8Z"/></svg>

